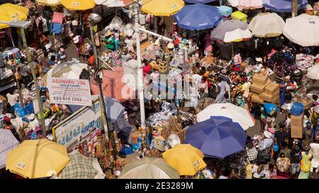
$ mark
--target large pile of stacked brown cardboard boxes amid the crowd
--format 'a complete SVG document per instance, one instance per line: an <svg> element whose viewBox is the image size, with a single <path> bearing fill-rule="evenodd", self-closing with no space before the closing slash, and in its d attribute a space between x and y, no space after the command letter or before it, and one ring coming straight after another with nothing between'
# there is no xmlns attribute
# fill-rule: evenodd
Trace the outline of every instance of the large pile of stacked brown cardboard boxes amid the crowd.
<svg viewBox="0 0 319 193"><path fill-rule="evenodd" d="M269 81L267 76L254 74L250 89L254 103L279 103L279 84Z"/></svg>

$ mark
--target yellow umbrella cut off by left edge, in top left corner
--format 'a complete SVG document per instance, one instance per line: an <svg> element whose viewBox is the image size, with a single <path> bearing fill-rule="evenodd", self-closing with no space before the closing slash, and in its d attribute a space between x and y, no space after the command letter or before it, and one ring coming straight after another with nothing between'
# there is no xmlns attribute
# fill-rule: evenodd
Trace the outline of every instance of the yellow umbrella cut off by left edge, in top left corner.
<svg viewBox="0 0 319 193"><path fill-rule="evenodd" d="M4 4L5 5L5 4ZM28 13L25 11L18 11L11 8L6 8L4 5L0 6L0 21L14 21L15 19L18 21L23 21L28 18ZM9 25L0 23L0 29L9 28Z"/></svg>

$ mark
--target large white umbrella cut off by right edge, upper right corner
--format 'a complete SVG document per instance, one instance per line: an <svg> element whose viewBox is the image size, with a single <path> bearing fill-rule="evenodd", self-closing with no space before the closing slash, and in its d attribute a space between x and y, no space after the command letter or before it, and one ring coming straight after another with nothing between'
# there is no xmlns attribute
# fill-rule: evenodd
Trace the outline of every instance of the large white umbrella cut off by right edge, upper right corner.
<svg viewBox="0 0 319 193"><path fill-rule="evenodd" d="M289 18L284 26L284 35L303 47L319 45L319 17L301 14Z"/></svg>

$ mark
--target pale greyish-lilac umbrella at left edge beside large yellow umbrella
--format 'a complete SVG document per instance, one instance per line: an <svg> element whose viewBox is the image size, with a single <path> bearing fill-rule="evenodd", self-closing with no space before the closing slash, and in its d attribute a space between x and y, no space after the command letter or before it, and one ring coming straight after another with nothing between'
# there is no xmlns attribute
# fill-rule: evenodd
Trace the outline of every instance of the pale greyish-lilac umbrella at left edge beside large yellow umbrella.
<svg viewBox="0 0 319 193"><path fill-rule="evenodd" d="M0 169L6 167L6 158L9 151L20 143L8 129L0 129Z"/></svg>

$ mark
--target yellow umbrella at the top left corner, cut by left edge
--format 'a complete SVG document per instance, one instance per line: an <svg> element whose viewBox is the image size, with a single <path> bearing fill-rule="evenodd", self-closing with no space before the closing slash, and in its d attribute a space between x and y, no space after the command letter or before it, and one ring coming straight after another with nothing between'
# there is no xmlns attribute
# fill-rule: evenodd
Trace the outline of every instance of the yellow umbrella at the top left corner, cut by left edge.
<svg viewBox="0 0 319 193"><path fill-rule="evenodd" d="M2 4L0 6L0 21L25 21L28 18L28 8L14 4ZM0 23L0 29L9 28L9 25Z"/></svg>

